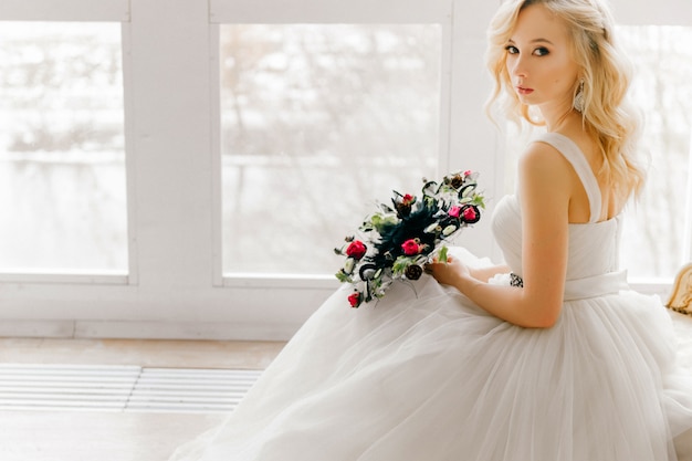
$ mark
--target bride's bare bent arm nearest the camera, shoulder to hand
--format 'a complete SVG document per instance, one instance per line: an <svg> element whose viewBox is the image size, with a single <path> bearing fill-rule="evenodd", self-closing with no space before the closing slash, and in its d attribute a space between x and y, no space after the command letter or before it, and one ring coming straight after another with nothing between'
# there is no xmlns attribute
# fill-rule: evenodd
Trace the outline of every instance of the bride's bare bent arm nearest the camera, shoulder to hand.
<svg viewBox="0 0 692 461"><path fill-rule="evenodd" d="M523 289L487 284L454 259L431 264L432 275L507 322L554 325L563 305L574 176L562 154L543 143L534 143L520 159Z"/></svg>

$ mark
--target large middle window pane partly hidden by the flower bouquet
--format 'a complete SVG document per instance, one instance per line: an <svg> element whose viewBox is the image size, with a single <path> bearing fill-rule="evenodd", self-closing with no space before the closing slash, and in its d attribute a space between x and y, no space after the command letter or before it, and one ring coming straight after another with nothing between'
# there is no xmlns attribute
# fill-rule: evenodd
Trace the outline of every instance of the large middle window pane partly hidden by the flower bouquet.
<svg viewBox="0 0 692 461"><path fill-rule="evenodd" d="M221 28L223 270L334 273L374 200L437 170L439 25Z"/></svg>

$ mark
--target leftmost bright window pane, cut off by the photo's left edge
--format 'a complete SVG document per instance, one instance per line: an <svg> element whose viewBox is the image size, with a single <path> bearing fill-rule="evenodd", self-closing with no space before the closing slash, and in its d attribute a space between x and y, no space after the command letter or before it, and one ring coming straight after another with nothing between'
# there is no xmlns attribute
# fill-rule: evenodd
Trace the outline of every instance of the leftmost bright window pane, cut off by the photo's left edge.
<svg viewBox="0 0 692 461"><path fill-rule="evenodd" d="M0 270L127 269L119 23L0 25Z"/></svg>

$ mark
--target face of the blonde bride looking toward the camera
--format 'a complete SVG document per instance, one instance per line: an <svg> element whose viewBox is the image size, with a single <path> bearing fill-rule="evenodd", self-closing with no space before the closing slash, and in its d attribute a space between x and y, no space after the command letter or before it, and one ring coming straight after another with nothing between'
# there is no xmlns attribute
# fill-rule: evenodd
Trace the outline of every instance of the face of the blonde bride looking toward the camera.
<svg viewBox="0 0 692 461"><path fill-rule="evenodd" d="M565 23L532 4L518 15L506 45L506 66L523 104L572 107L579 72Z"/></svg>

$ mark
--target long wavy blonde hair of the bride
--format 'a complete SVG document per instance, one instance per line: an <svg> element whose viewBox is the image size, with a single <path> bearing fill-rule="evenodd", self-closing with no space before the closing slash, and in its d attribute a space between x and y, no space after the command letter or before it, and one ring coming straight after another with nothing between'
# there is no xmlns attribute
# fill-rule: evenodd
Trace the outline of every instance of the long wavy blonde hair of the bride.
<svg viewBox="0 0 692 461"><path fill-rule="evenodd" d="M532 125L544 125L520 102L505 64L505 49L518 14L532 4L542 4L568 28L573 60L580 67L574 92L577 93L583 78L583 123L604 156L599 174L606 176L618 193L625 197L638 193L644 171L636 161L639 114L627 101L631 66L616 46L612 17L600 0L510 0L502 4L487 32L486 64L495 80L486 105L489 113L499 104L517 123L523 118Z"/></svg>

